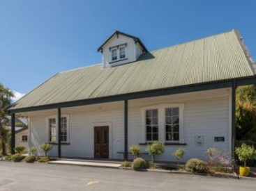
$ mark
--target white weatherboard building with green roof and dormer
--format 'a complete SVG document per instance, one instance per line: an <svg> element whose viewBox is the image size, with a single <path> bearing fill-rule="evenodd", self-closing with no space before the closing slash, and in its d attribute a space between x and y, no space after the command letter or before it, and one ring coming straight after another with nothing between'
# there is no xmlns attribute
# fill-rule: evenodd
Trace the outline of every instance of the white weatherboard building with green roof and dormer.
<svg viewBox="0 0 256 191"><path fill-rule="evenodd" d="M162 161L178 148L184 161L211 147L233 153L234 92L255 83L238 31L151 52L115 31L98 51L102 63L60 72L9 108L28 117L38 154L49 142L59 158L127 159L130 144L144 152L154 140L165 143Z"/></svg>

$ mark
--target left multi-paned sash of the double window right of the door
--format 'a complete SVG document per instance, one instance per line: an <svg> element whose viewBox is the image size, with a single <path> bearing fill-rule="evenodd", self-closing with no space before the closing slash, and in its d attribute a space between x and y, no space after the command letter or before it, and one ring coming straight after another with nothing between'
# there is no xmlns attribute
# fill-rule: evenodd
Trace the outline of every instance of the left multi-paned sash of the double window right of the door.
<svg viewBox="0 0 256 191"><path fill-rule="evenodd" d="M146 141L158 140L158 110L146 110Z"/></svg>

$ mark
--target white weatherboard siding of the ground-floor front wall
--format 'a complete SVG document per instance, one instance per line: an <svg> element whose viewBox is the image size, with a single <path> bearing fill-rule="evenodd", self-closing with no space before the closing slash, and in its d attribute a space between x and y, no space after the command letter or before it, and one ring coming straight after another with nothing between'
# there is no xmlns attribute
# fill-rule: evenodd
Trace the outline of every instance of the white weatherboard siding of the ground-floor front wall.
<svg viewBox="0 0 256 191"><path fill-rule="evenodd" d="M204 159L206 149L210 147L231 151L229 97L230 90L221 89L128 101L128 145L144 142L142 108L163 103L182 103L184 105L183 134L187 145L166 145L165 153L157 160L175 160L172 152L178 148L186 149L184 161L194 157ZM70 132L70 144L61 145L62 156L93 158L93 126L107 124L110 126L110 158L120 158L116 152L123 151L123 101L63 108L61 112L69 116ZM40 145L48 141L46 118L56 114L57 110L44 110L29 114L32 145ZM159 137L163 142L165 141L163 140L164 131L163 126L159 127L159 132L163 133L159 134ZM196 135L204 136L203 146L195 146ZM216 136L225 137L225 142L214 142ZM145 145L140 147L142 151L146 149ZM50 155L57 156L57 145L54 145ZM144 158L150 157L144 156Z"/></svg>

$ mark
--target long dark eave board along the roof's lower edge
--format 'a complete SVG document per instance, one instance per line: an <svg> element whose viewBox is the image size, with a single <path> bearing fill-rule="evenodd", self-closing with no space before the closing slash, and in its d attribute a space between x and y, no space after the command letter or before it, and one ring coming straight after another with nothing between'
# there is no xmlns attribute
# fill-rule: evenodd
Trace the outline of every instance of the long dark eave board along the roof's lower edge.
<svg viewBox="0 0 256 191"><path fill-rule="evenodd" d="M17 109L8 109L8 113L22 113L27 111L36 111L36 110L49 110L55 108L68 108L75 106L85 106L96 103L107 103L113 101L123 101L130 99L141 99L146 97L158 97L169 94L181 94L187 92L198 92L203 90L215 90L220 88L231 88L234 79L228 79L223 81L212 81L207 83L197 83L193 85L183 85L174 88L163 88L157 90L147 90L142 92L133 92L129 94L119 94L109 97L99 97L96 99L82 99L76 101L67 101L62 103L52 103L42 106L31 106L28 108L17 108ZM236 85L249 85L256 84L256 76L250 76L246 78L238 78L236 79Z"/></svg>

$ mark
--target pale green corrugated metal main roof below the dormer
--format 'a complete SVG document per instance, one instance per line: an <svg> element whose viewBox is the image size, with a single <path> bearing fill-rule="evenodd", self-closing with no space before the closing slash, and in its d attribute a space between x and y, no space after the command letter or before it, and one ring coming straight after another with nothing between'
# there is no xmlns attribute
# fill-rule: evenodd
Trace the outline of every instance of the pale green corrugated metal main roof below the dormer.
<svg viewBox="0 0 256 191"><path fill-rule="evenodd" d="M58 73L17 101L11 109L254 74L240 36L230 31L144 53L136 62L118 67L103 69L99 64Z"/></svg>

